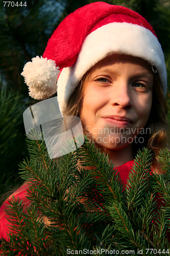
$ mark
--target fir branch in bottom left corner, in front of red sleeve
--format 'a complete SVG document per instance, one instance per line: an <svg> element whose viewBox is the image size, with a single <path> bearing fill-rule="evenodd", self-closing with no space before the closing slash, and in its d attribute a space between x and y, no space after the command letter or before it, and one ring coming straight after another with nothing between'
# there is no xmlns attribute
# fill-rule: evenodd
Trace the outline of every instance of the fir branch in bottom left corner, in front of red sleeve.
<svg viewBox="0 0 170 256"><path fill-rule="evenodd" d="M26 208L19 199L9 201L7 212L8 220L11 223L12 234L8 236L10 243L3 241L4 253L8 255L47 255L41 253L44 246L44 226L41 218L37 219L38 212L35 207Z"/></svg>

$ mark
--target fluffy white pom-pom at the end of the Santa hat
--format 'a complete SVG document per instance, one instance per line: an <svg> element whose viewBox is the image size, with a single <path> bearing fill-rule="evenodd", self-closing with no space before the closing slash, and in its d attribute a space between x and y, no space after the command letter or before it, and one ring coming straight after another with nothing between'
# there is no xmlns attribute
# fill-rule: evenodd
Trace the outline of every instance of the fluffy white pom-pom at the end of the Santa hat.
<svg viewBox="0 0 170 256"><path fill-rule="evenodd" d="M60 73L52 59L36 56L23 68L21 75L29 87L29 95L34 99L46 99L57 92L57 77Z"/></svg>

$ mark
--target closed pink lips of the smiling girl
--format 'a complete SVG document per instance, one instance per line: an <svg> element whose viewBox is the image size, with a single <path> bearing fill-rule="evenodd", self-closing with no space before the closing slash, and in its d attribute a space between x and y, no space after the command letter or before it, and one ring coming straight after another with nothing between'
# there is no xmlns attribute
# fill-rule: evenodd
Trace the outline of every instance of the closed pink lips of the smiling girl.
<svg viewBox="0 0 170 256"><path fill-rule="evenodd" d="M106 122L117 126L128 126L134 121L126 116L104 116L102 117Z"/></svg>

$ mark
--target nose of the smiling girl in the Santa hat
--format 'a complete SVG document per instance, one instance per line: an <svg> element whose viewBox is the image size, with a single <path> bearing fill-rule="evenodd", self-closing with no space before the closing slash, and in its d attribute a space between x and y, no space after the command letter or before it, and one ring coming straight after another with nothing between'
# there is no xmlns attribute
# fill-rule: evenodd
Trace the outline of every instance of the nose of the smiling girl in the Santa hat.
<svg viewBox="0 0 170 256"><path fill-rule="evenodd" d="M126 109L132 106L131 90L127 83L115 84L113 86L112 95L110 96L110 104Z"/></svg>

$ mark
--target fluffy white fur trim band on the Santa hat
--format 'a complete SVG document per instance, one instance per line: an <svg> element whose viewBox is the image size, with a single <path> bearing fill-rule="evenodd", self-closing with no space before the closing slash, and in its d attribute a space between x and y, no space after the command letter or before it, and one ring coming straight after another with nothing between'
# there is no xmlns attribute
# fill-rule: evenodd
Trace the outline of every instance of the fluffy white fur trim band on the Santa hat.
<svg viewBox="0 0 170 256"><path fill-rule="evenodd" d="M166 94L166 67L161 45L148 29L129 23L109 23L84 40L74 66L64 68L58 79L58 101L64 112L69 97L83 75L108 54L122 53L147 60L155 66L160 76L163 93Z"/></svg>

